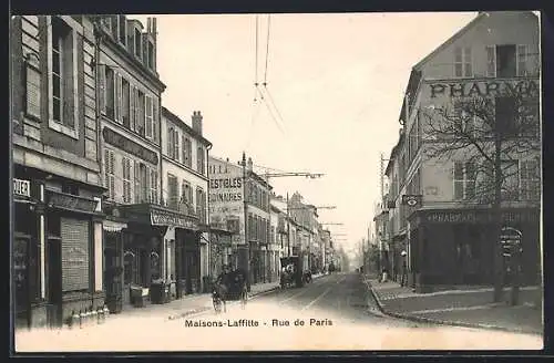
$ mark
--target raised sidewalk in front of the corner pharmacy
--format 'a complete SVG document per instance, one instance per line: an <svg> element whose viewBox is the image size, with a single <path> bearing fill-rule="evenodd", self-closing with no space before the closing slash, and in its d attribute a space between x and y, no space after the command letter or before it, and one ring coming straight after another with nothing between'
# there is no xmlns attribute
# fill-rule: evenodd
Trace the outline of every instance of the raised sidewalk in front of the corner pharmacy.
<svg viewBox="0 0 554 363"><path fill-rule="evenodd" d="M381 283L366 277L379 310L388 315L422 322L468 328L483 328L543 334L538 287L520 290L520 304L509 305L510 288L504 288L504 301L492 303L492 288L459 287L456 290L416 293L398 282Z"/></svg>

